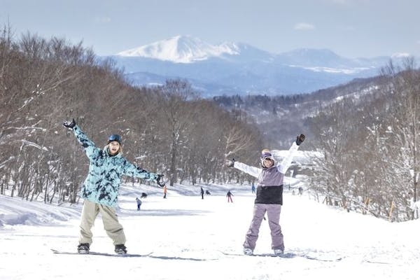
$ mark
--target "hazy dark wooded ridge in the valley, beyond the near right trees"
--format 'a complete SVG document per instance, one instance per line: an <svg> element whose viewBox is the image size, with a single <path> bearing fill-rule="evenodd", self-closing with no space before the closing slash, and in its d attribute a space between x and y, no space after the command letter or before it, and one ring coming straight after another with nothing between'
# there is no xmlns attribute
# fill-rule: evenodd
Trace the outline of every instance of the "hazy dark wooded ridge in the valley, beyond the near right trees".
<svg viewBox="0 0 420 280"><path fill-rule="evenodd" d="M222 108L232 111L241 120L258 123L264 146L275 149L287 149L293 135L304 133L312 138L311 117L323 112L331 103L344 97L357 97L369 94L386 83L386 78L356 79L350 83L335 87L328 87L316 92L295 95L233 95L216 96L212 100ZM303 149L313 150L315 142L305 144Z"/></svg>

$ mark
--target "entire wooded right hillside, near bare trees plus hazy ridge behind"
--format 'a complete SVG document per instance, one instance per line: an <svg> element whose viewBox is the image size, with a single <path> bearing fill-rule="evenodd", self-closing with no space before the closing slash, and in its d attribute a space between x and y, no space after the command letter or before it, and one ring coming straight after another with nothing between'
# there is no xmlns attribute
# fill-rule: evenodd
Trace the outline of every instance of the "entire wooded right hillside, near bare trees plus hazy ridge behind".
<svg viewBox="0 0 420 280"><path fill-rule="evenodd" d="M319 151L308 186L318 200L389 221L419 218L420 72L413 57L377 77L311 94L214 97L256 119L265 144ZM244 112L246 113L244 113ZM306 171L307 172L307 171Z"/></svg>

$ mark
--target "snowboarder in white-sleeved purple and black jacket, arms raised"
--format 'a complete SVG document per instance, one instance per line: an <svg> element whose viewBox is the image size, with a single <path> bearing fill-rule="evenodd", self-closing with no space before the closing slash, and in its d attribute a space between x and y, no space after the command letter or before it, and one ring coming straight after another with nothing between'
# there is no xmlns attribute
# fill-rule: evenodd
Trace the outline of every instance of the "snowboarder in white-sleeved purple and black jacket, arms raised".
<svg viewBox="0 0 420 280"><path fill-rule="evenodd" d="M227 167L235 167L258 179L253 218L244 241L245 255L253 254L265 212L267 212L269 228L272 235L272 249L274 250L274 254L283 254L284 241L279 224L281 206L283 205L283 178L288 167L290 167L294 152L297 151L304 139L304 134L298 135L296 141L293 142L288 150L286 158L278 164L274 161L272 153L267 149L261 151L261 168L250 167L244 163L236 162L235 159L226 162Z"/></svg>

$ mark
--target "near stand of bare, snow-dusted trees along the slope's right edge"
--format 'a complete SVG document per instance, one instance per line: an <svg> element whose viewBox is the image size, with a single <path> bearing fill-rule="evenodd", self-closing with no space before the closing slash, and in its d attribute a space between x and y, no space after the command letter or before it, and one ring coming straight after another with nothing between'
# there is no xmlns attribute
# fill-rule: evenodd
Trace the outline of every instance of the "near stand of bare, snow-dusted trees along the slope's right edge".
<svg viewBox="0 0 420 280"><path fill-rule="evenodd" d="M380 80L308 120L320 152L309 183L327 204L407 221L419 218L420 71L411 57Z"/></svg>

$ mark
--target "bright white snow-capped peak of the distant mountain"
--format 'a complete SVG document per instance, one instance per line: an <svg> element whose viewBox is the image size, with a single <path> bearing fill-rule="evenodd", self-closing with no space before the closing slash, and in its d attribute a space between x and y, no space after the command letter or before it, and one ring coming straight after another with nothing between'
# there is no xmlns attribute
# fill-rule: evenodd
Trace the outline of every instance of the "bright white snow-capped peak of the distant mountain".
<svg viewBox="0 0 420 280"><path fill-rule="evenodd" d="M158 41L139 48L119 52L123 57L147 57L175 63L191 63L222 57L223 55L237 55L239 50L235 44L223 43L211 45L193 36L174 36L167 40Z"/></svg>

